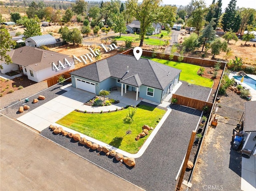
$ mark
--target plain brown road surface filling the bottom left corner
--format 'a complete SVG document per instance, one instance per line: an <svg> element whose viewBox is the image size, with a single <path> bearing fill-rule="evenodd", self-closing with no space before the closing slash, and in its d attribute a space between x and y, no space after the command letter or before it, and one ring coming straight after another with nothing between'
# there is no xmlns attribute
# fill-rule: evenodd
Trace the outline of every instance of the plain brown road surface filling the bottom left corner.
<svg viewBox="0 0 256 191"><path fill-rule="evenodd" d="M0 190L142 189L0 116Z"/></svg>

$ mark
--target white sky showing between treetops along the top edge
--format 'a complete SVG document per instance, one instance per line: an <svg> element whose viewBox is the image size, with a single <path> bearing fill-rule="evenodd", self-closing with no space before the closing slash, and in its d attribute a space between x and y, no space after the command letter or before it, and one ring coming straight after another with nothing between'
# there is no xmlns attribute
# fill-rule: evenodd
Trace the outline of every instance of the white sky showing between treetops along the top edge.
<svg viewBox="0 0 256 191"><path fill-rule="evenodd" d="M215 0L215 2L217 2L218 0ZM142 0L139 0L139 2L142 2ZM162 0L163 4L171 4L171 5L183 5L186 6L188 5L191 0L180 0L180 1L176 1L176 0ZM206 6L209 6L210 4L212 4L212 0L204 0L204 2L206 2ZM222 12L225 12L225 8L228 6L228 3L230 2L230 0L222 0ZM245 7L245 8L254 8L256 9L256 0L237 0L236 1L236 6L238 6L239 8L241 7Z"/></svg>

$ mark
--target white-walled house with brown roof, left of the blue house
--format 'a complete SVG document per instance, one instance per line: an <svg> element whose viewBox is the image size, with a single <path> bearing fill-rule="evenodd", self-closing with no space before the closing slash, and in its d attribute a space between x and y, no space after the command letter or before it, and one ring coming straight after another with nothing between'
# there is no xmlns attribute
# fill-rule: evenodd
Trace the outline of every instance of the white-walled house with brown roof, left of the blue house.
<svg viewBox="0 0 256 191"><path fill-rule="evenodd" d="M12 58L13 63L6 64L4 61L0 61L3 67L3 69L0 69L1 73L17 71L24 73L24 75L28 76L28 79L35 82L44 81L75 68L74 59L68 57L68 55L30 46L11 50L8 55ZM70 63L70 67L65 65L64 59ZM59 61L63 63L66 67L65 69L60 67ZM59 71L53 69L53 63L57 65Z"/></svg>

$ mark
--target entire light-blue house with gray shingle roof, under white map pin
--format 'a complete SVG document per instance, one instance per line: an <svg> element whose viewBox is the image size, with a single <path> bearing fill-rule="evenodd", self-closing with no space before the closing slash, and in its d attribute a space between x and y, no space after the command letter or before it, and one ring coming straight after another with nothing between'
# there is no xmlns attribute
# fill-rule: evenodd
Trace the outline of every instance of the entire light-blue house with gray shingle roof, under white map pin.
<svg viewBox="0 0 256 191"><path fill-rule="evenodd" d="M102 90L121 87L120 95L134 91L134 99L162 100L179 81L181 70L130 55L114 55L72 71L72 86L99 95Z"/></svg>

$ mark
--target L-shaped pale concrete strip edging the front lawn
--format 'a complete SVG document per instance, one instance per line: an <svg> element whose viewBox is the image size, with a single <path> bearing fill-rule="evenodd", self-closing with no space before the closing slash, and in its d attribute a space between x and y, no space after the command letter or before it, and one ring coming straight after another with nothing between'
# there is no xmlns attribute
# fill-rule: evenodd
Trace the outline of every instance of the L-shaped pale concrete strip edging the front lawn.
<svg viewBox="0 0 256 191"><path fill-rule="evenodd" d="M166 120L166 118L169 116L170 112L172 111L172 109L170 107L166 107L167 111L164 114L164 116L162 117L162 119L160 120L160 122L156 125L156 127L154 128L154 130L152 131L152 133L150 134L150 136L147 138L147 140L144 142L144 144L142 145L142 147L140 148L140 150L136 153L136 154L130 154L126 151L120 150L114 146L111 146L109 144L106 144L104 142L101 142L99 140L96 140L94 138L91 138L87 135L84 135L80 132L77 132L75 130L72 130L70 128L67 128L65 126L62 126L60 124L54 123L52 125L56 125L56 126L60 126L63 128L63 130L67 131L67 132L71 132L73 134L80 134L81 137L86 138L86 140L91 141L93 143L96 143L100 146L105 146L106 148L110 149L110 150L115 150L117 153L120 153L126 157L132 157L132 158L139 158L140 156L142 156L142 154L144 154L144 152L146 151L146 149L148 148L150 142L153 140L154 136L157 134L158 130L160 129L160 127L162 126L162 124L164 123L164 121Z"/></svg>

